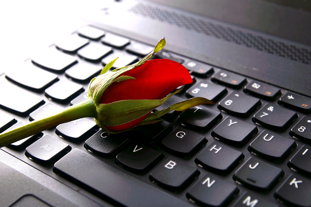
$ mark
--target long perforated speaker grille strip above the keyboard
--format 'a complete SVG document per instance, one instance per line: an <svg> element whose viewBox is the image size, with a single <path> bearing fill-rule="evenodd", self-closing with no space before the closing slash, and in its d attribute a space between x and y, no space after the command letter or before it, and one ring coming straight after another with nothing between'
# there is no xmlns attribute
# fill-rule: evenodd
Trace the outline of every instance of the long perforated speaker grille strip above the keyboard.
<svg viewBox="0 0 311 207"><path fill-rule="evenodd" d="M311 51L295 45L246 33L244 31L187 16L178 12L168 11L153 5L143 4L141 2L134 5L129 11L139 16L167 22L171 25L194 30L197 33L203 33L207 36L224 39L228 42L234 42L239 45L244 45L246 47L251 47L263 52L311 65Z"/></svg>

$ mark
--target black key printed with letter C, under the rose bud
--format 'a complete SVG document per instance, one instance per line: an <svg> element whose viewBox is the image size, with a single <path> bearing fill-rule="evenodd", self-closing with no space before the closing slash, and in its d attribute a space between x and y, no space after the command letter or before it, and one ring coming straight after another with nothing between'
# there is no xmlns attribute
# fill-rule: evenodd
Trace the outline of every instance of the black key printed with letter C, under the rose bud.
<svg viewBox="0 0 311 207"><path fill-rule="evenodd" d="M120 152L129 142L124 133L109 134L101 129L85 141L84 147L96 155L110 158Z"/></svg>

